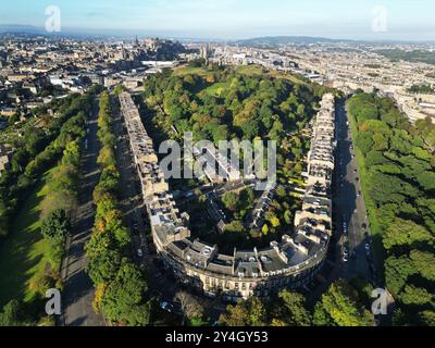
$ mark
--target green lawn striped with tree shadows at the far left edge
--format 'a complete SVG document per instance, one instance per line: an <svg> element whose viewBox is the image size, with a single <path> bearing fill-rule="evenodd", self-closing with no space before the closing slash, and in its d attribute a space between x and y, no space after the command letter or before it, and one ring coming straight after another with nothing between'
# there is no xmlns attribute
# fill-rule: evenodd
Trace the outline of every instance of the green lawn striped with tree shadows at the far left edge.
<svg viewBox="0 0 435 348"><path fill-rule="evenodd" d="M0 307L17 298L29 302L32 278L44 272L49 246L40 234L39 206L47 195L46 173L14 220L15 227L0 246Z"/></svg>

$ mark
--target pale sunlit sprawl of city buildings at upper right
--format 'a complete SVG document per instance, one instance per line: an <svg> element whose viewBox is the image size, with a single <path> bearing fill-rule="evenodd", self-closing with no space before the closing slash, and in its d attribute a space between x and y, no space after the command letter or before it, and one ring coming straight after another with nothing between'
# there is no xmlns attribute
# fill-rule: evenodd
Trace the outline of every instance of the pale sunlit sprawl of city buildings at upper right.
<svg viewBox="0 0 435 348"><path fill-rule="evenodd" d="M411 122L435 119L433 95L411 95L412 85L435 86L435 66L405 61L391 62L380 55L378 49L397 46L370 44L295 44L275 48L254 48L213 44L209 46L209 61L216 64L258 64L266 69L290 72L312 82L326 85L346 94L356 89L366 92L378 90L396 100ZM403 49L427 47L403 46ZM203 49L200 49L203 54Z"/></svg>

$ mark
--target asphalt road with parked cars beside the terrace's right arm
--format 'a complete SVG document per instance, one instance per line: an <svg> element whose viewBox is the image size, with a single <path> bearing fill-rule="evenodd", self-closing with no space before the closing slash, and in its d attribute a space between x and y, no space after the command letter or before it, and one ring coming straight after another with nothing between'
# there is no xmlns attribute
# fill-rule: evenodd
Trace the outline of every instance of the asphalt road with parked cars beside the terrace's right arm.
<svg viewBox="0 0 435 348"><path fill-rule="evenodd" d="M348 115L345 104L337 104L337 170L335 191L336 228L341 234L343 276L353 278L361 276L376 283L373 264L373 248L370 238L370 224L361 189L358 163L355 157L352 135L347 125ZM347 233L345 233L345 226ZM369 245L369 248L366 248ZM344 261L343 251L349 252Z"/></svg>

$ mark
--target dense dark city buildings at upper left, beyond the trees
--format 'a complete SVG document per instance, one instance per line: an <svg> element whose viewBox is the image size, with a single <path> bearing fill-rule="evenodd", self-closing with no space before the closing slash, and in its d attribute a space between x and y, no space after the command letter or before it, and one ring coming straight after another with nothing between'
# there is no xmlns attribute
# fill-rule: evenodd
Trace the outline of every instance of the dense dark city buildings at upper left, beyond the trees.
<svg viewBox="0 0 435 348"><path fill-rule="evenodd" d="M183 45L161 39L133 42L9 36L0 44L0 108L29 109L94 84L137 91L147 75L173 67Z"/></svg>

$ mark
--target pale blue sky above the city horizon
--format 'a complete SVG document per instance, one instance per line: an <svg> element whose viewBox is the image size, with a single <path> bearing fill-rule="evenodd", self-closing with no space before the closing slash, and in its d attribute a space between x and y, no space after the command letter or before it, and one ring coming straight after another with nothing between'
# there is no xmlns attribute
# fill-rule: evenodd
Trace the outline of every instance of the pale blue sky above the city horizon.
<svg viewBox="0 0 435 348"><path fill-rule="evenodd" d="M141 35L247 38L297 35L357 39L435 40L433 0L8 0L0 24L42 27L58 5L62 28ZM387 30L372 30L373 8L387 11Z"/></svg>

